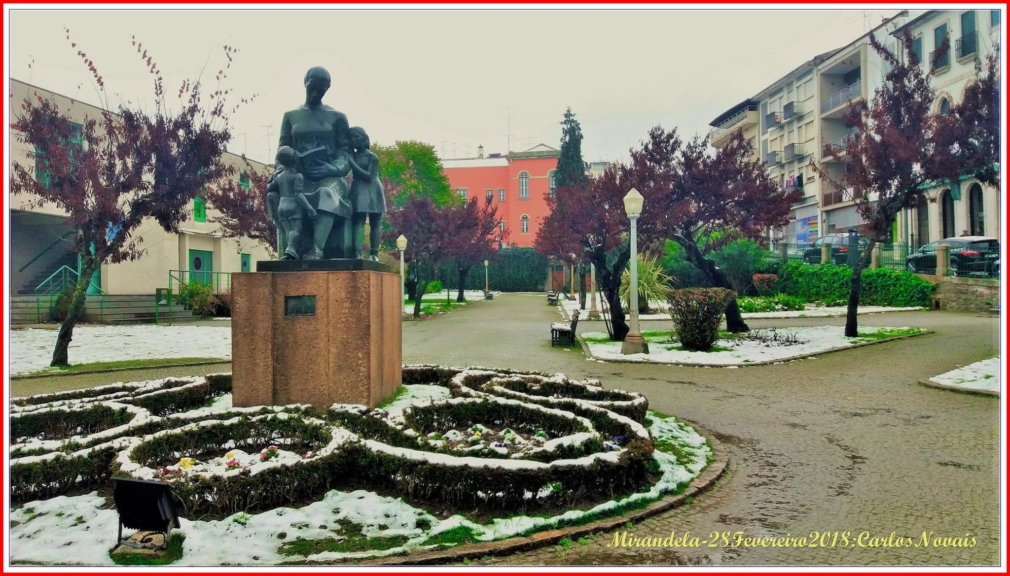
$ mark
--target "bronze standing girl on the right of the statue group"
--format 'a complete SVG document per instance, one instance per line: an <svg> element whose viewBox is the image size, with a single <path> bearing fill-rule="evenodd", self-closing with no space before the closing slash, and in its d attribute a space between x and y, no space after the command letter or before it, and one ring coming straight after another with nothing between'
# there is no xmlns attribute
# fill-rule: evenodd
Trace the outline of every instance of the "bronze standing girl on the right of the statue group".
<svg viewBox="0 0 1010 576"><path fill-rule="evenodd" d="M348 157L355 175L350 184L350 204L354 208L351 224L351 258L364 258L365 221L369 222L369 258L379 261L379 242L382 237L382 215L386 212L386 196L379 181L379 156L370 148L372 142L361 126L347 130L351 147Z"/></svg>

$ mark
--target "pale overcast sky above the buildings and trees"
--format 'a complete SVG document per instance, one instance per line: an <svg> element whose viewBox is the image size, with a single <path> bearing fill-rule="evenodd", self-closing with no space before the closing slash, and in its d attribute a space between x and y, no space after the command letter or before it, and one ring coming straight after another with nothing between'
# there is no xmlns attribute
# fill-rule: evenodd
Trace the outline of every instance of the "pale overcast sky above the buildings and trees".
<svg viewBox="0 0 1010 576"><path fill-rule="evenodd" d="M854 40L895 10L16 10L11 77L97 104L77 50L106 89L152 100L136 34L170 97L206 64L214 82L257 94L232 118L229 150L267 161L284 111L304 100L312 66L324 102L373 142L429 142L442 157L558 146L567 106L587 161L621 159L655 125L694 134L813 55ZM71 47L64 25L71 28ZM209 63L208 63L209 59ZM508 118L511 115L511 122ZM272 125L267 139L265 125ZM242 135L244 133L244 135Z"/></svg>

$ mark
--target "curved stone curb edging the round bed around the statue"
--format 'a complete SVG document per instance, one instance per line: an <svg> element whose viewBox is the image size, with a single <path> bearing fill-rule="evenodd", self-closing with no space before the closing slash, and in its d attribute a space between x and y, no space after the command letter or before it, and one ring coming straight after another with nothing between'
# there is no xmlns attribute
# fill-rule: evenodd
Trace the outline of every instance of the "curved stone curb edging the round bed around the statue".
<svg viewBox="0 0 1010 576"><path fill-rule="evenodd" d="M685 503L688 498L693 498L712 486L715 481L722 476L729 466L729 458L722 449L722 443L716 440L715 436L705 431L701 427L680 420L684 424L695 429L695 431L708 440L712 447L713 460L701 474L691 480L688 488L680 494L670 494L659 499L644 508L629 511L619 516L610 516L586 525L567 527L563 529L545 530L530 536L519 536L507 540L494 542L479 542L448 548L445 550L433 550L402 557L385 557L375 560L355 563L356 566L418 566L431 564L445 564L449 562L462 562L465 559L482 558L484 556L501 556L523 550L540 548L558 541L569 538L578 539L587 534L613 530L626 525L627 523L637 523L649 516L665 512Z"/></svg>

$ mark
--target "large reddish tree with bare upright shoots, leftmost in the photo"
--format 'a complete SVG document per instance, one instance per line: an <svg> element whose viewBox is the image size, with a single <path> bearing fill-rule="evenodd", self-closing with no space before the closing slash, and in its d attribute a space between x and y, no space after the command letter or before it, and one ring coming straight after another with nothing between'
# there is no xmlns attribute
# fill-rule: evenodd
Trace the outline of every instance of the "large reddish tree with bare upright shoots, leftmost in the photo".
<svg viewBox="0 0 1010 576"><path fill-rule="evenodd" d="M69 40L70 30L66 32ZM140 44L133 43L140 52ZM234 51L225 47L229 66ZM161 71L144 50L140 57L154 77L154 110L121 104L113 113L95 63L81 50L78 56L92 72L106 110L85 118L78 133L66 111L36 93L34 100L25 99L15 108L11 122L17 141L33 150L35 161L34 166L13 165L11 192L34 196L29 206L52 203L66 211L81 261L53 366L69 363L68 347L84 315L86 290L102 262L139 258L143 238L135 232L141 223L154 220L177 232L200 189L233 174L221 158L230 139L226 90L204 98L199 79L184 82L174 109L166 102ZM223 70L218 73L223 75Z"/></svg>

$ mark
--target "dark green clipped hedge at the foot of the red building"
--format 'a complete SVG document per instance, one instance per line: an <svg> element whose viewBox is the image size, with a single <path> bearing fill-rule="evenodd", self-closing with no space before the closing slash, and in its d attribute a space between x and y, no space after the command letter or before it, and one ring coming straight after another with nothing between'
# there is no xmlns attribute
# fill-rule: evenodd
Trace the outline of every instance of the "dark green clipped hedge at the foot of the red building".
<svg viewBox="0 0 1010 576"><path fill-rule="evenodd" d="M502 248L488 266L488 287L496 292L543 292L546 277L547 258L534 248ZM460 272L454 265L439 266L438 278L443 289L459 289ZM484 290L484 262L470 268L463 287Z"/></svg>

